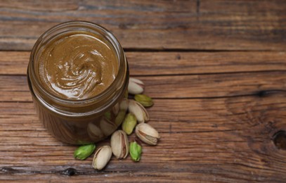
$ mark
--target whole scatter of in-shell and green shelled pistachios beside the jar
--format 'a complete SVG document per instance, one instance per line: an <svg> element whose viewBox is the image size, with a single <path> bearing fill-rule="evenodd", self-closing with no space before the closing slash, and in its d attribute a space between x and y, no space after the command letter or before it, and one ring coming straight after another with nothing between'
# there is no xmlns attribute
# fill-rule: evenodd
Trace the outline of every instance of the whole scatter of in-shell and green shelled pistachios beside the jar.
<svg viewBox="0 0 286 183"><path fill-rule="evenodd" d="M127 113L122 122L122 130L117 130L112 134L110 139L111 146L101 146L97 149L92 163L94 169L103 169L110 161L112 153L117 159L126 158L130 154L132 160L140 160L141 145L135 140L129 143L127 137L134 132L134 128L136 136L145 144L155 146L158 139L160 139L157 130L145 123L150 119L145 108L152 106L153 102L149 96L142 94L144 92L144 83L141 80L130 77L128 92L134 95L135 100L129 99L127 102L129 113ZM95 144L79 146L74 151L74 158L84 160L91 156L95 149Z"/></svg>

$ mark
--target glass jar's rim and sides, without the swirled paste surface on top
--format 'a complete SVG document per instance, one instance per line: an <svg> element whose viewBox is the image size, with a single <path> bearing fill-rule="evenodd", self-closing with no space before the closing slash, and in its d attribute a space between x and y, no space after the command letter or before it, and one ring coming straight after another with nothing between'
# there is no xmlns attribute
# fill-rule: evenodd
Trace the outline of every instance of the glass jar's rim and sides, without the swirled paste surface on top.
<svg viewBox="0 0 286 183"><path fill-rule="evenodd" d="M72 31L100 34L112 45L118 58L115 80L103 92L88 99L63 99L49 92L39 81L39 56L44 47L58 36ZM31 52L27 80L39 119L56 139L68 144L89 144L114 132L124 120L127 110L129 69L122 46L115 36L94 23L72 21L47 30L39 37Z"/></svg>

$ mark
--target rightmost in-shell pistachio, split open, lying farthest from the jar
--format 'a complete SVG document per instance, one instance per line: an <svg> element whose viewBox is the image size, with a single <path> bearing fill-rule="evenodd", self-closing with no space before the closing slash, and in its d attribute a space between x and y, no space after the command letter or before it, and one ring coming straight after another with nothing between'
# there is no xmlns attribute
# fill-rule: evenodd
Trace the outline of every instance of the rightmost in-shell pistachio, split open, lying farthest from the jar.
<svg viewBox="0 0 286 183"><path fill-rule="evenodd" d="M140 123L136 126L135 129L136 136L139 137L146 144L157 145L158 139L160 139L160 135L153 127L148 125L147 123Z"/></svg>

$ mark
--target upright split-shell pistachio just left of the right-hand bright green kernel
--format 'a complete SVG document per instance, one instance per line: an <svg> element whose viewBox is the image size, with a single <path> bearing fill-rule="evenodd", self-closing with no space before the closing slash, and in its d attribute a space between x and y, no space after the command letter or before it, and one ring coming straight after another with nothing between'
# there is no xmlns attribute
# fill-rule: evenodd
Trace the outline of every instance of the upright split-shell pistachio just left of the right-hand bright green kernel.
<svg viewBox="0 0 286 183"><path fill-rule="evenodd" d="M127 135L122 130L115 131L110 139L112 153L117 159L126 158L129 153Z"/></svg>

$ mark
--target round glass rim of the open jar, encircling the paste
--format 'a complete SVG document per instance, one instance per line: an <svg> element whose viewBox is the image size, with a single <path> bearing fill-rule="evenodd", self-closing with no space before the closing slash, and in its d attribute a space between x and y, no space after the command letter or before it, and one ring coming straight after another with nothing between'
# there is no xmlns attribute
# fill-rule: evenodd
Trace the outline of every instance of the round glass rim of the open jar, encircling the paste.
<svg viewBox="0 0 286 183"><path fill-rule="evenodd" d="M60 24L55 25L55 26L51 27L50 29L46 30L46 32L44 32L44 34L42 34L41 37L39 37L39 39L37 40L37 42L34 44L34 47L31 51L30 64L29 64L30 65L29 68L30 68L30 71L32 72L32 76L33 77L36 76L36 73L35 73L35 70L33 67L34 66L34 56L36 56L37 51L39 49L39 46L43 42L44 38L46 38L49 34L53 33L54 31L63 29L65 27L82 27L82 26L86 26L86 25L88 25L89 27L85 27L85 28L92 27L92 28L94 28L93 31L94 30L100 30L102 32L105 32L108 35L108 37L113 41L110 43L112 44L112 46L116 50L117 56L119 57L119 59L118 59L119 69L122 68L122 66L124 66L124 69L126 70L126 59L125 59L124 51L123 51L122 46L119 44L119 42L118 42L118 40L114 34L112 34L105 27L102 27L96 23L91 23L88 21L69 21L69 22L65 22L65 23L60 23ZM110 91L110 89L112 89L112 87L115 87L115 84L120 79L121 78L120 78L119 70L118 70L117 76L115 77L115 80L113 80L113 82L110 84L109 87L107 87L103 92L100 92L100 94L97 94L96 96L91 96L91 97L86 98L86 99L64 99L60 96L56 96L55 94L49 92L47 89L42 87L38 80L35 80L35 82L36 82L37 86L39 87L39 89L41 90L41 92L44 92L44 94L51 96L53 99L56 99L57 101L64 102L64 103L89 103L89 101L94 101L94 100L100 99L103 95L108 93L108 91Z"/></svg>

